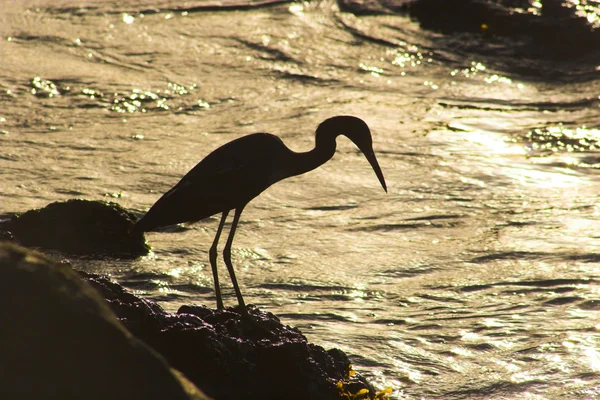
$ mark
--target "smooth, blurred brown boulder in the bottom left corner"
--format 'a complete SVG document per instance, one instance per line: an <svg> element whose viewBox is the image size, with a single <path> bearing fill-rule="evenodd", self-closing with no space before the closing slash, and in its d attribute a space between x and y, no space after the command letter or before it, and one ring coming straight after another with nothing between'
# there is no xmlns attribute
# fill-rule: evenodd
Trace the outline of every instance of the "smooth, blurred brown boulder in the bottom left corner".
<svg viewBox="0 0 600 400"><path fill-rule="evenodd" d="M207 399L66 264L0 243L0 399Z"/></svg>

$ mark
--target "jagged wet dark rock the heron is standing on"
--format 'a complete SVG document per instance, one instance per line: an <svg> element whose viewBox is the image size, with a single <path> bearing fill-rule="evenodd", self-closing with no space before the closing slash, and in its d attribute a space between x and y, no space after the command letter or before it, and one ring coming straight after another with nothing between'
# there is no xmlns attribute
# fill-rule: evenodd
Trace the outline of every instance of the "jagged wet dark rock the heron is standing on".
<svg viewBox="0 0 600 400"><path fill-rule="evenodd" d="M342 399L342 391L375 392L340 350L326 351L250 308L213 310L183 306L176 314L95 275L82 275L108 300L121 322L196 386L216 399Z"/></svg>

